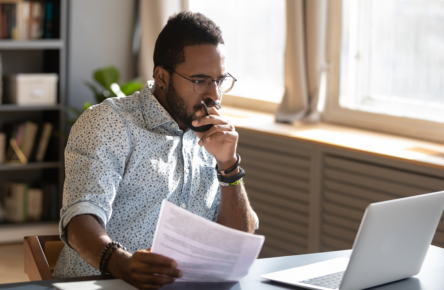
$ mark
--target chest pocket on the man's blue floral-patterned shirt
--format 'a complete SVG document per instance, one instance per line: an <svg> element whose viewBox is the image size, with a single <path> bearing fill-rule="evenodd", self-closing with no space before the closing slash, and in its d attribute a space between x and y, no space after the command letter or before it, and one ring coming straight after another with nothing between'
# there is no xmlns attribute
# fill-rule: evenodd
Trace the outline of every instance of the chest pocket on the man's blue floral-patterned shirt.
<svg viewBox="0 0 444 290"><path fill-rule="evenodd" d="M213 204L219 187L216 169L214 167L201 166L199 180L199 188L195 198L198 203L202 203L205 211L208 211Z"/></svg>

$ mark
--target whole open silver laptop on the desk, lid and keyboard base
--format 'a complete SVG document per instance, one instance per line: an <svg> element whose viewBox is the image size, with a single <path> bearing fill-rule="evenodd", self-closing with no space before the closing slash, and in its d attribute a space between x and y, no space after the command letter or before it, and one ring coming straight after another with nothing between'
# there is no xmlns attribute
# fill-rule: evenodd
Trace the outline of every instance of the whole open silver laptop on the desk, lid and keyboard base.
<svg viewBox="0 0 444 290"><path fill-rule="evenodd" d="M361 290L421 270L444 209L444 191L372 203L350 258L336 258L261 275L308 289Z"/></svg>

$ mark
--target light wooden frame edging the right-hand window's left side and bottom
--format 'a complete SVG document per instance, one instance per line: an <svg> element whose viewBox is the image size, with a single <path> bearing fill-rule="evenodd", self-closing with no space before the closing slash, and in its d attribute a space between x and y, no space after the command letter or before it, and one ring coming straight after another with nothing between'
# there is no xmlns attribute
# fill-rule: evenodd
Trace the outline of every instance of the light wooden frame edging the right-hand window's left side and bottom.
<svg viewBox="0 0 444 290"><path fill-rule="evenodd" d="M444 123L358 111L339 106L341 3L341 0L329 1L326 48L328 77L325 106L322 114L323 120L349 127L360 127L373 131L443 142Z"/></svg>

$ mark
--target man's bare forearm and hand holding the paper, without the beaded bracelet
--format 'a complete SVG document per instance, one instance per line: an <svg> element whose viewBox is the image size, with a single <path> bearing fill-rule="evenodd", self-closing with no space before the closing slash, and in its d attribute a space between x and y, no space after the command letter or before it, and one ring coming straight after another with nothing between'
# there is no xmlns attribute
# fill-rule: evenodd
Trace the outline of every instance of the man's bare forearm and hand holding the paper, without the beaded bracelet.
<svg viewBox="0 0 444 290"><path fill-rule="evenodd" d="M68 242L90 265L99 269L103 249L111 238L100 226L95 215L76 215L66 226ZM177 262L165 256L138 250L131 254L123 249L114 250L107 271L139 289L159 289L163 284L182 277Z"/></svg>

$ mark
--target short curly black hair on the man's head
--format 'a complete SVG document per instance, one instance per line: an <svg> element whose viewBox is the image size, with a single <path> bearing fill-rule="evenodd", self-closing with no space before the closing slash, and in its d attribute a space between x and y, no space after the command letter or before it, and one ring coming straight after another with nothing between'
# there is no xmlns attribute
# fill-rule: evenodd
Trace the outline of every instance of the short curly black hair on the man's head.
<svg viewBox="0 0 444 290"><path fill-rule="evenodd" d="M179 64L185 62L183 49L199 44L224 44L222 31L202 13L185 10L174 13L157 37L153 55L154 68L161 66L175 70Z"/></svg>

